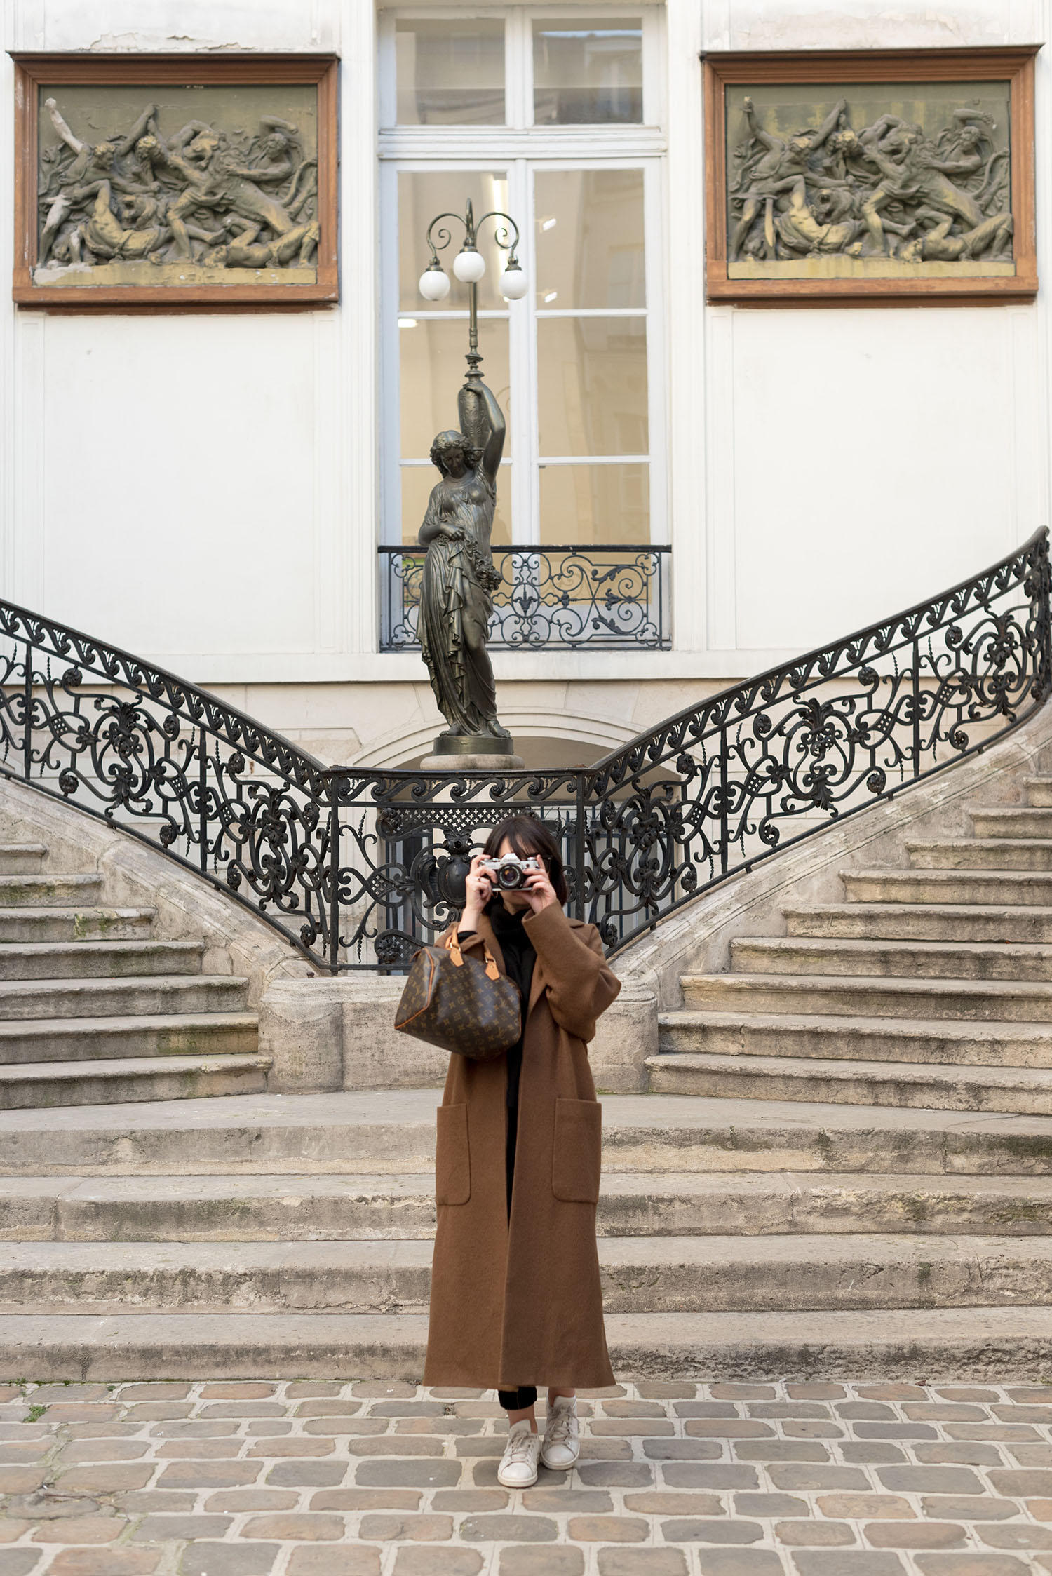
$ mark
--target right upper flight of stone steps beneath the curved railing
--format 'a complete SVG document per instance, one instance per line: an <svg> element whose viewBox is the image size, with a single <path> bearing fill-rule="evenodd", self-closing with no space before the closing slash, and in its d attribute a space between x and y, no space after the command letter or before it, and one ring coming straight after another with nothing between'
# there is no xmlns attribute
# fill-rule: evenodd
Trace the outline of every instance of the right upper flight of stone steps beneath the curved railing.
<svg viewBox="0 0 1052 1576"><path fill-rule="evenodd" d="M671 1094L1052 1114L1052 777L973 835L907 842L909 868L854 870L847 901L737 938L660 1018L650 1087Z"/></svg>

